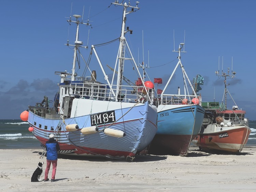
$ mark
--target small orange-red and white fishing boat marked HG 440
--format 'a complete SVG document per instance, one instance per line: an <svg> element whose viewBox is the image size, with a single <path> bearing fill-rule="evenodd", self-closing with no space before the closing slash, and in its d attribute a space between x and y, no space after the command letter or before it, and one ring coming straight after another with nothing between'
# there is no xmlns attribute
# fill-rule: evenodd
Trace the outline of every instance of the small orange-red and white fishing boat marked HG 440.
<svg viewBox="0 0 256 192"><path fill-rule="evenodd" d="M224 72L218 74L219 72L216 71L217 76L225 77L225 104L222 102L219 106L218 102L202 102L205 108L203 124L193 143L204 151L240 152L248 141L251 129L248 127L248 119L244 117L245 110L239 109L235 102L232 109L227 109L227 93L229 92L226 79L233 78L236 72L230 75L228 68L227 74Z"/></svg>

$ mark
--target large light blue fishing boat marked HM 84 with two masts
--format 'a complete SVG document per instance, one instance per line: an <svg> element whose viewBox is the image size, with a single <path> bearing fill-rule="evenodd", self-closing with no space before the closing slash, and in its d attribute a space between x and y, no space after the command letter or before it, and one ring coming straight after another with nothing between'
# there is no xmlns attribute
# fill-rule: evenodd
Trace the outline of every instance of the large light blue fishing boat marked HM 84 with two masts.
<svg viewBox="0 0 256 192"><path fill-rule="evenodd" d="M29 106L21 114L23 120L28 120L31 126L29 130L43 147L49 135L54 134L62 154L90 154L133 160L137 153L151 143L156 134L157 107L153 105L153 83L143 82L142 86L123 85L125 60L132 61L130 63L139 72L125 39L125 34L132 32L126 28L126 15L139 9L138 2L136 6L118 1L112 5L123 7L121 35L100 46L118 40L120 42L114 68L114 71L118 71L117 82L113 81L115 72L112 82L109 81L97 54L97 45L91 46L89 55L95 54L106 82L96 80L96 72L89 69L89 63L86 63L89 75L78 76L80 65L77 69L77 55L81 55L81 48L88 48L82 46L83 42L79 39L79 26L88 26L88 23L83 23L80 15L73 15L74 20L70 17L68 22L76 24L74 45L67 44L74 47L72 72L55 72L60 76L60 83L52 107L45 96L42 102ZM125 55L127 52L131 58ZM81 57L83 58L82 55ZM137 74L141 78L140 73ZM147 84L151 86L148 87Z"/></svg>

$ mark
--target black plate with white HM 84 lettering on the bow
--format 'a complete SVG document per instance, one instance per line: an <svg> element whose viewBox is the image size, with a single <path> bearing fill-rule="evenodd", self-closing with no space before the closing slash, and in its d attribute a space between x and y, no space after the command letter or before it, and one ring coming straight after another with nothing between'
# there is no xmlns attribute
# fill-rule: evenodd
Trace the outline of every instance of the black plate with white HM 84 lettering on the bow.
<svg viewBox="0 0 256 192"><path fill-rule="evenodd" d="M91 126L112 123L115 121L115 111L108 111L91 115Z"/></svg>

